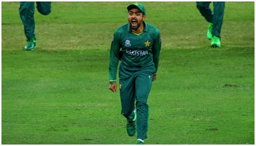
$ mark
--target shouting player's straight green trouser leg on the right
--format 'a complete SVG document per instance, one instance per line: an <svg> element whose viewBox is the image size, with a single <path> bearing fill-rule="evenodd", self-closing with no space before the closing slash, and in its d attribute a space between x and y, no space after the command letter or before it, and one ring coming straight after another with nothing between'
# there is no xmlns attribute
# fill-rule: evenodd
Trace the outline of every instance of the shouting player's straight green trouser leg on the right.
<svg viewBox="0 0 256 146"><path fill-rule="evenodd" d="M138 139L147 138L149 116L147 99L152 85L152 77L153 73L142 73L137 76L135 81Z"/></svg>

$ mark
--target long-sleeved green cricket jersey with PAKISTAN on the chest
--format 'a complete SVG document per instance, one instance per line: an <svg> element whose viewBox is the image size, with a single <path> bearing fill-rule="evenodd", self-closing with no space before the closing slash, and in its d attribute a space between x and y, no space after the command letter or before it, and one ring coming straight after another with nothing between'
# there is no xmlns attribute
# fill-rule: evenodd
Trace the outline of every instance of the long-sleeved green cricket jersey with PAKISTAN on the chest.
<svg viewBox="0 0 256 146"><path fill-rule="evenodd" d="M112 38L110 48L109 82L116 83L118 61L134 71L154 63L157 73L161 49L161 34L159 30L144 22L144 31L140 34L132 32L130 24L117 28Z"/></svg>

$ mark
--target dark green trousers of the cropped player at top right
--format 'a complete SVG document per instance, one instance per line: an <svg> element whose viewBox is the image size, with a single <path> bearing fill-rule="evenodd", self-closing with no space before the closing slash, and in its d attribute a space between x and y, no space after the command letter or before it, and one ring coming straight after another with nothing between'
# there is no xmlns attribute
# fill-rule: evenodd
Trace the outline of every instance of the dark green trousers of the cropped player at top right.
<svg viewBox="0 0 256 146"><path fill-rule="evenodd" d="M224 16L225 1L214 1L213 11L210 8L211 1L197 1L196 7L207 22L213 23L212 35L221 38L221 27Z"/></svg>

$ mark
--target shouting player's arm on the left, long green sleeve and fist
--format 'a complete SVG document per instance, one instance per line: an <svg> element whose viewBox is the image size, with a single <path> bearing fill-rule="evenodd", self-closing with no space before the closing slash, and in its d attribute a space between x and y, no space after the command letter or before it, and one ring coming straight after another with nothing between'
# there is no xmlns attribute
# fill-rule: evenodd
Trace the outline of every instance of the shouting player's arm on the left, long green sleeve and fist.
<svg viewBox="0 0 256 146"><path fill-rule="evenodd" d="M114 32L112 43L110 47L109 53L109 89L113 92L116 91L116 81L117 81L117 67L119 61L119 53L120 53L120 40L118 32ZM112 85L113 84L113 85Z"/></svg>

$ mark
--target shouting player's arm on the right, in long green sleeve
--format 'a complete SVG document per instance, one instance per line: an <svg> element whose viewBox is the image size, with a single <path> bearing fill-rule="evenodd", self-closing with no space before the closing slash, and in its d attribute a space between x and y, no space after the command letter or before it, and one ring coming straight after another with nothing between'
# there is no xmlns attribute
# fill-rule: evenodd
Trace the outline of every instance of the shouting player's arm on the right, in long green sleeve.
<svg viewBox="0 0 256 146"><path fill-rule="evenodd" d="M159 56L160 56L160 50L161 50L161 43L162 43L161 33L158 30L158 33L156 33L156 35L155 35L154 44L152 46L153 62L155 64L155 73L154 73L153 77L155 77L155 78L157 76ZM155 80L155 78L153 79L153 81Z"/></svg>

